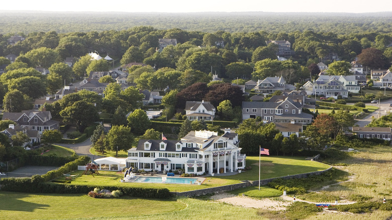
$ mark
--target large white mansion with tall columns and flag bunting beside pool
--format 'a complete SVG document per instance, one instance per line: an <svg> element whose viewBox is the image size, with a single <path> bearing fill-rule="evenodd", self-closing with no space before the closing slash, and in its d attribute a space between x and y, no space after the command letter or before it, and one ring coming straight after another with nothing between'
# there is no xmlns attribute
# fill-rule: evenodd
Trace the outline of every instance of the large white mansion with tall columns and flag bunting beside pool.
<svg viewBox="0 0 392 220"><path fill-rule="evenodd" d="M245 154L240 154L238 134L225 130L191 131L181 140L139 140L128 150L127 167L146 171L184 169L185 173L226 173L245 167Z"/></svg>

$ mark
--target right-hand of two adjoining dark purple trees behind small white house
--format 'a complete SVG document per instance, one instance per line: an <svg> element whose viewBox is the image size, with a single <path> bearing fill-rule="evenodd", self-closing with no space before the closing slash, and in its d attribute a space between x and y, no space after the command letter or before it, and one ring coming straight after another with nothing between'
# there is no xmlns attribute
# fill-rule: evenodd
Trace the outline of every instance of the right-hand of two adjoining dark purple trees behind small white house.
<svg viewBox="0 0 392 220"><path fill-rule="evenodd" d="M230 83L220 83L209 87L209 92L204 100L210 101L214 106L218 106L223 100L230 100L233 106L240 106L244 100L244 92L239 86Z"/></svg>

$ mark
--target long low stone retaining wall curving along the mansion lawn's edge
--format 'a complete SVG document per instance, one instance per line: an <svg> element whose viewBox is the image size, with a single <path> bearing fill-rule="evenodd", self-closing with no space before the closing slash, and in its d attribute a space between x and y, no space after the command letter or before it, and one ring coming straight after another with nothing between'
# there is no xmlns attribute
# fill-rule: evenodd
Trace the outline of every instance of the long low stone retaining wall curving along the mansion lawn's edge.
<svg viewBox="0 0 392 220"><path fill-rule="evenodd" d="M311 172L311 173L302 173L302 174L297 174L297 175L289 175L289 176L282 176L282 177L276 177L276 178L270 178L270 179L262 179L260 180L260 185L266 185L269 182L272 182L274 179L282 178L282 179L299 179L299 178L306 178L308 176L312 175L320 175L328 170L332 169L332 167L322 170L322 171L316 171L316 172ZM220 192L225 192L225 191L230 191L234 189L239 189L239 188L244 188L248 186L258 186L259 181L248 181L245 180L242 183L237 183L237 184L232 184L232 185L226 185L226 186L217 186L217 187L212 187L212 188L206 188L206 189L198 189L198 190L192 190L192 191L186 191L186 192L170 192L173 195L176 196L199 196L199 195L205 195L205 194L210 194L210 193L220 193Z"/></svg>

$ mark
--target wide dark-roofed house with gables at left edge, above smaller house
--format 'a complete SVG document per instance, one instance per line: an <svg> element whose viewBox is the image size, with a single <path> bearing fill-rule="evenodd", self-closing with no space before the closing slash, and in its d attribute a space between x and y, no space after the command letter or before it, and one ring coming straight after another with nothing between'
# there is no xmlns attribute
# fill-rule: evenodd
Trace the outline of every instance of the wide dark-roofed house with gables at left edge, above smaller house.
<svg viewBox="0 0 392 220"><path fill-rule="evenodd" d="M45 130L58 130L59 122L52 120L49 111L22 111L21 113L4 113L2 120L11 120L16 122L22 128L29 127L31 130L37 130L42 134Z"/></svg>

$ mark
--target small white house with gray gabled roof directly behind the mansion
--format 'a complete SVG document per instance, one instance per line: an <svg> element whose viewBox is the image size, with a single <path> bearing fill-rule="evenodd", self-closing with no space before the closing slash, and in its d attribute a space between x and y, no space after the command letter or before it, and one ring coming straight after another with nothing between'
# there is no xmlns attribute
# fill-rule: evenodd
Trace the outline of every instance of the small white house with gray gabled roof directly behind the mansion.
<svg viewBox="0 0 392 220"><path fill-rule="evenodd" d="M211 121L215 118L216 109L209 101L187 101L185 103L185 116L189 121Z"/></svg>

